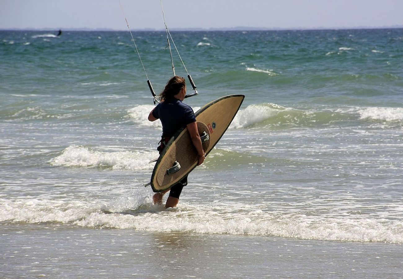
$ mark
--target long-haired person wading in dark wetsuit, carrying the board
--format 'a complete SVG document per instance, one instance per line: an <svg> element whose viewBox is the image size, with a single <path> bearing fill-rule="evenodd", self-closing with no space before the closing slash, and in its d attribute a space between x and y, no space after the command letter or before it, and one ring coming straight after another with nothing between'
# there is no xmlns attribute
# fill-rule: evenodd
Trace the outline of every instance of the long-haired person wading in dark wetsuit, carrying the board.
<svg viewBox="0 0 403 279"><path fill-rule="evenodd" d="M183 104L183 99L186 96L186 82L183 77L174 76L165 85L164 90L159 95L161 102L148 115L149 121L160 119L162 123L162 139L158 151L162 151L169 139L181 128L186 126L189 131L193 145L197 150L198 162L200 165L204 162L205 153L197 130L196 118L193 109ZM166 189L163 192L154 194L154 204L162 203L162 197L168 191L169 197L166 200L165 207L177 206L179 196L183 187L187 185L187 176L179 183Z"/></svg>

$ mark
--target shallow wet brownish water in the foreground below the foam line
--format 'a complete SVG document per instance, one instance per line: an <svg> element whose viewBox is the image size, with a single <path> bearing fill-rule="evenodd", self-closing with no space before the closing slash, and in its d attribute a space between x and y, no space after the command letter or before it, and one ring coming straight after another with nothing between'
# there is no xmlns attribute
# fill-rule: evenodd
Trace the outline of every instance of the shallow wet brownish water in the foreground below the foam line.
<svg viewBox="0 0 403 279"><path fill-rule="evenodd" d="M402 275L390 244L149 233L54 224L8 226L6 277L356 277Z"/></svg>

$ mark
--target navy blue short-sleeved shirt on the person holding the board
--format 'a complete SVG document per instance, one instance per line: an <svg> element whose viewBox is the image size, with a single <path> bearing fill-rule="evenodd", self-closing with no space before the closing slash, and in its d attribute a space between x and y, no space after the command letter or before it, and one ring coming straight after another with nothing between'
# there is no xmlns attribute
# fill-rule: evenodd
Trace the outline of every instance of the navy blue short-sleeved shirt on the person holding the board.
<svg viewBox="0 0 403 279"><path fill-rule="evenodd" d="M193 109L175 98L159 103L152 115L161 120L162 137L172 137L180 128L196 121Z"/></svg>

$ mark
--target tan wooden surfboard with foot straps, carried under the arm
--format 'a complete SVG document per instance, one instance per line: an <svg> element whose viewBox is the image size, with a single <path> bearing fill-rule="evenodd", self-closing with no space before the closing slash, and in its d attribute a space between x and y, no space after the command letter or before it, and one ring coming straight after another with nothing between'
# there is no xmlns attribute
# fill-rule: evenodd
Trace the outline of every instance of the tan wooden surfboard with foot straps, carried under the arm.
<svg viewBox="0 0 403 279"><path fill-rule="evenodd" d="M202 142L206 156L228 129L244 98L241 94L224 96L206 104L195 113L199 135L206 132L209 137L208 141ZM162 150L154 166L151 181L146 186L151 185L154 192L170 188L197 166L197 160L197 150L187 128L183 127Z"/></svg>

